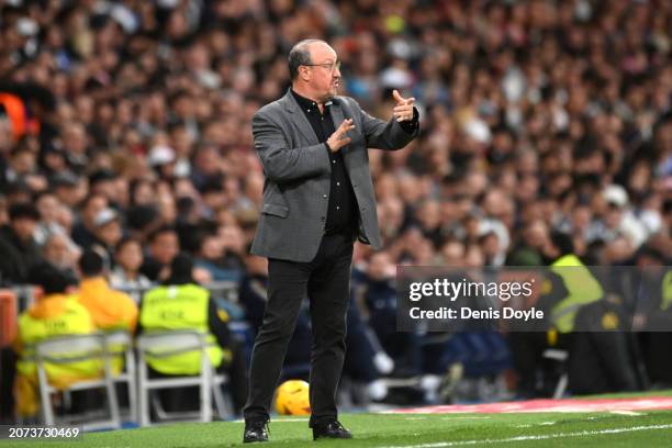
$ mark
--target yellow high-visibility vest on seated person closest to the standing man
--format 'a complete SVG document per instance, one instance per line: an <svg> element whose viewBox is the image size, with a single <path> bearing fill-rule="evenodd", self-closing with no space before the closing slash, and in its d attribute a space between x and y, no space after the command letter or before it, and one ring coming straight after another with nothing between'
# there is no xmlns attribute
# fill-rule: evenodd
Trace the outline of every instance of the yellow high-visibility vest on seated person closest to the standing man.
<svg viewBox="0 0 672 448"><path fill-rule="evenodd" d="M213 367L222 363L223 351L208 327L210 292L198 284L163 285L143 296L139 322L145 332L193 329L206 334L208 357ZM147 357L147 363L166 374L198 374L198 350L166 357Z"/></svg>

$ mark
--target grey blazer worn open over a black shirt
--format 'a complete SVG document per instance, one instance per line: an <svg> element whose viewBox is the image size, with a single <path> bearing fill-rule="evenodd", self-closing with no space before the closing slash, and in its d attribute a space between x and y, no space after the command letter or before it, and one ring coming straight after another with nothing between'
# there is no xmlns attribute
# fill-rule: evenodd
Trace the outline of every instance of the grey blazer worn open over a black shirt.
<svg viewBox="0 0 672 448"><path fill-rule="evenodd" d="M367 148L401 149L417 136L396 120L376 119L348 97L335 97L331 105L334 126L352 119L352 141L340 148L359 208L360 242L381 247L373 182ZM324 143L288 90L253 117L255 148L266 180L264 205L251 253L268 258L311 261L324 234L332 167Z"/></svg>

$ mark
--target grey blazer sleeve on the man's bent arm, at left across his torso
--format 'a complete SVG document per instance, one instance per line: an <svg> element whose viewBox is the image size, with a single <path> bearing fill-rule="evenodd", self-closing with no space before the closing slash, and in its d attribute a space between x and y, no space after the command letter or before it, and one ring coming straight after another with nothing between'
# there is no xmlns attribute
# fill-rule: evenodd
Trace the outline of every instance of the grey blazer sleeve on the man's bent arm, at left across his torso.
<svg viewBox="0 0 672 448"><path fill-rule="evenodd" d="M253 136L264 172L276 183L329 172L329 155L323 143L301 148L289 147L280 126L264 111L253 117Z"/></svg>

